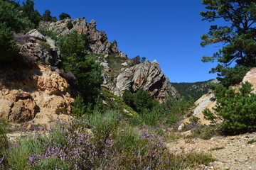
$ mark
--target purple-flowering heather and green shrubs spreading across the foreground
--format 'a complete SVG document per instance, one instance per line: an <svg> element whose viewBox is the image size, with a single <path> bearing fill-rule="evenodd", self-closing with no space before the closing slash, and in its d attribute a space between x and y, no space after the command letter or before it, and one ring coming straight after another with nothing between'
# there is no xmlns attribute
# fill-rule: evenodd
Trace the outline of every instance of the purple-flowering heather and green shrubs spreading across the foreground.
<svg viewBox="0 0 256 170"><path fill-rule="evenodd" d="M174 155L164 138L119 122L117 111L58 120L48 135L19 140L5 152L4 169L186 169L208 164L206 154ZM90 130L87 128L91 128ZM1 160L0 160L1 161ZM4 165L4 166L3 166Z"/></svg>

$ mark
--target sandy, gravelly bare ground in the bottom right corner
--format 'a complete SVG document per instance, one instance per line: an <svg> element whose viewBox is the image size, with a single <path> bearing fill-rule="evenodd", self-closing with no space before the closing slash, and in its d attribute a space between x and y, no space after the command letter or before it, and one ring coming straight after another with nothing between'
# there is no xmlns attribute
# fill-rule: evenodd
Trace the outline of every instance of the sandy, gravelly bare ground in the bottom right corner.
<svg viewBox="0 0 256 170"><path fill-rule="evenodd" d="M256 132L236 136L217 136L210 140L179 139L167 146L178 153L203 152L215 162L198 169L256 169Z"/></svg>

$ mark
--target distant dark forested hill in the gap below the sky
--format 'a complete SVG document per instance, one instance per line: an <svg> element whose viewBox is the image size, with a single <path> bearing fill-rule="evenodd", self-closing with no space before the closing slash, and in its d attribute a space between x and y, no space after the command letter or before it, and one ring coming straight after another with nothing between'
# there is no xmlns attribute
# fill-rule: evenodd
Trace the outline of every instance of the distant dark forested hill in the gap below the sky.
<svg viewBox="0 0 256 170"><path fill-rule="evenodd" d="M189 96L193 98L194 101L197 101L198 98L201 98L203 94L208 93L208 81L197 81L194 83L171 83L174 88L178 91L178 94L183 96L186 100L189 99Z"/></svg>

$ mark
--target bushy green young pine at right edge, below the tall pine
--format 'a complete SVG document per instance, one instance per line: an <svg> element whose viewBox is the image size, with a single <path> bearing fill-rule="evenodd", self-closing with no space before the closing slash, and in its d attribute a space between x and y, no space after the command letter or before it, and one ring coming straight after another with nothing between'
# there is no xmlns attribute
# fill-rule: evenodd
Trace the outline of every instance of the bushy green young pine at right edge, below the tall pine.
<svg viewBox="0 0 256 170"><path fill-rule="evenodd" d="M217 118L223 120L220 128L226 133L256 130L256 94L252 94L252 84L247 81L242 83L238 92L217 86L215 97L215 112L211 113L209 109L203 111L208 120L212 123L216 123Z"/></svg>

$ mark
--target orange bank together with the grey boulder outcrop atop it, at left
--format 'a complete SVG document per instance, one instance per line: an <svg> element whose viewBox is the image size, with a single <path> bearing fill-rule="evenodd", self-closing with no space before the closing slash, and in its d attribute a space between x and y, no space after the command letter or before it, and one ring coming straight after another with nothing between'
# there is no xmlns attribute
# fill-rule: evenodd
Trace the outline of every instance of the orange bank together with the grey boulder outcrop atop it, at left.
<svg viewBox="0 0 256 170"><path fill-rule="evenodd" d="M0 69L0 118L11 123L34 120L41 124L68 119L73 102L70 86L60 77L59 69L48 65L60 62L58 47L37 30L28 35L28 42L20 45L21 56L33 57L36 63L32 68ZM46 49L42 42L50 47Z"/></svg>

